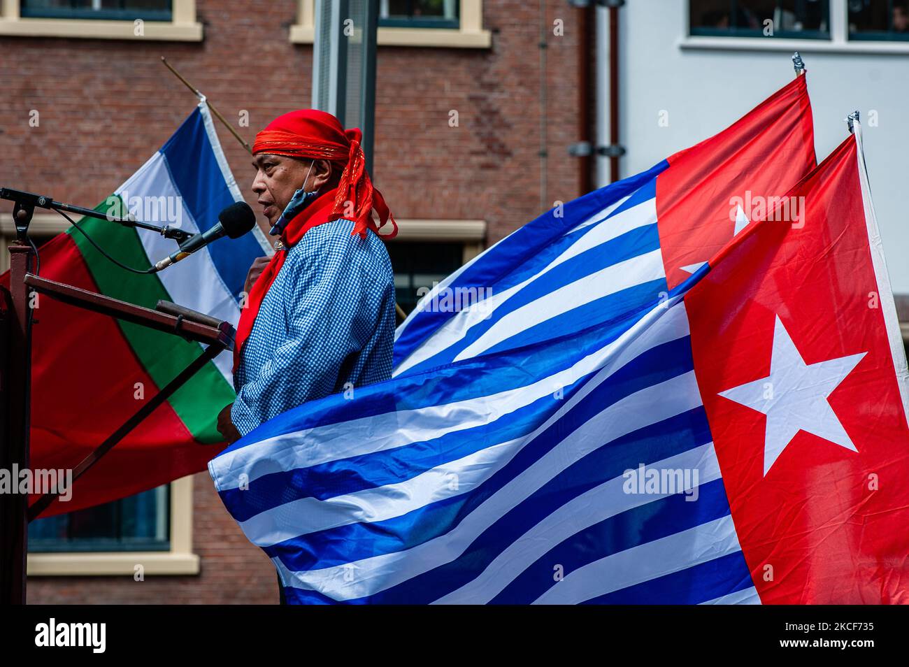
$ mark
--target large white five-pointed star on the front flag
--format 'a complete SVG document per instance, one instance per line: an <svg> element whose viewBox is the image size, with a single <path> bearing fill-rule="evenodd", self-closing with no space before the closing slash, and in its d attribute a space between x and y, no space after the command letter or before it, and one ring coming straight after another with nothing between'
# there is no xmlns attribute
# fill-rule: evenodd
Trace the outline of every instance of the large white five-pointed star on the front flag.
<svg viewBox="0 0 909 667"><path fill-rule="evenodd" d="M827 397L852 373L865 353L804 363L779 316L774 325L770 374L761 380L720 392L730 401L767 415L764 433L764 475L795 433L805 431L857 452Z"/></svg>

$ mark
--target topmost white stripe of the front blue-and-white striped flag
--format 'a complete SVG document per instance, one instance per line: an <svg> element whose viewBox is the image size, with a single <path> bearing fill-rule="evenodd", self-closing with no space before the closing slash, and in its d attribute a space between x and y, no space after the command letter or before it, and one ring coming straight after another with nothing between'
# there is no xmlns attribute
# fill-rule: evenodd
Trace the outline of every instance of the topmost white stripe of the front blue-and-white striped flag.
<svg viewBox="0 0 909 667"><path fill-rule="evenodd" d="M664 305L668 306L669 302ZM664 319L659 326L647 325L663 315ZM651 347L686 335L688 318L684 313L684 304L674 308L657 306L613 343L587 355L570 368L536 383L482 398L361 417L295 433L284 433L215 457L208 464L209 471L215 487L224 491L238 488L241 483L252 483L269 473L296 470L410 443L430 441L445 433L491 423L504 413L514 412L538 398L554 393L556 386L573 384L578 378L601 366L606 369L606 375L601 373L602 378L598 381L602 382L609 373L614 373ZM556 416L574 405L578 398L572 397ZM478 412L478 408L484 412ZM245 477L241 478L241 475Z"/></svg>

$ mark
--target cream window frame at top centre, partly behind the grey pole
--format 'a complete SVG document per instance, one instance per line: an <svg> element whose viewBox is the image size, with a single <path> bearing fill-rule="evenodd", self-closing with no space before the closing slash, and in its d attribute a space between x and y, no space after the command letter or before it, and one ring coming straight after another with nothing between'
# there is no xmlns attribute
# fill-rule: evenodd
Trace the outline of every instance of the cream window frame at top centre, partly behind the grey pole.
<svg viewBox="0 0 909 667"><path fill-rule="evenodd" d="M380 25L379 46L432 46L435 48L490 48L492 33L483 29L483 0L459 0L457 28L392 27ZM293 44L313 44L315 0L297 0L296 24L290 27Z"/></svg>

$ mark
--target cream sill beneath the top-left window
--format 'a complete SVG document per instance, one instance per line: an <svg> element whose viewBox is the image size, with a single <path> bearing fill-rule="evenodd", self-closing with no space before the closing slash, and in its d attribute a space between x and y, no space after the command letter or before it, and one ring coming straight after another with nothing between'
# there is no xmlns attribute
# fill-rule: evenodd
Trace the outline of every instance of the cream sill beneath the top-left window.
<svg viewBox="0 0 909 667"><path fill-rule="evenodd" d="M128 39L141 41L201 42L202 24L145 21L145 35L135 35L132 21L58 18L0 18L0 36L79 37L83 39Z"/></svg>

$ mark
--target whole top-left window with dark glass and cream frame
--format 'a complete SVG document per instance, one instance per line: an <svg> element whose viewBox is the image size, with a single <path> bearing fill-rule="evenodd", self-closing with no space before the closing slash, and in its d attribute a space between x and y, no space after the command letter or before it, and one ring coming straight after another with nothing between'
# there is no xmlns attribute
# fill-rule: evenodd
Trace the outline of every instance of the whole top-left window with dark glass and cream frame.
<svg viewBox="0 0 909 667"><path fill-rule="evenodd" d="M199 42L195 0L0 0L0 36Z"/></svg>

